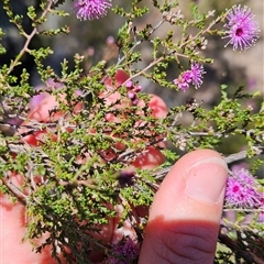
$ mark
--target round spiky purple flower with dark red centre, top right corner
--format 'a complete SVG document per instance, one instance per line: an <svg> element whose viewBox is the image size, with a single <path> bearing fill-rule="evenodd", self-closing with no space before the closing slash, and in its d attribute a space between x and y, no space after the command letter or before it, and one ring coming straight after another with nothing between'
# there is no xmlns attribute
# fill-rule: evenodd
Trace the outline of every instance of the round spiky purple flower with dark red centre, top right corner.
<svg viewBox="0 0 264 264"><path fill-rule="evenodd" d="M226 46L231 44L234 51L238 48L243 51L251 47L258 38L258 24L248 7L234 6L228 11L227 20L227 24L223 25L227 28L227 35L223 38L230 40Z"/></svg>

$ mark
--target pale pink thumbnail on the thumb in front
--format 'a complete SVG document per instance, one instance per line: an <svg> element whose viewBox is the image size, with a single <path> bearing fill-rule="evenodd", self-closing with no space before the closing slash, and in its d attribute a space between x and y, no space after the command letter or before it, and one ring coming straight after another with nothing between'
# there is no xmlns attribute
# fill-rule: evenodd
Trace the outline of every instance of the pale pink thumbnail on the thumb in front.
<svg viewBox="0 0 264 264"><path fill-rule="evenodd" d="M194 164L186 175L186 194L197 200L217 204L223 198L228 175L226 162L218 157Z"/></svg>

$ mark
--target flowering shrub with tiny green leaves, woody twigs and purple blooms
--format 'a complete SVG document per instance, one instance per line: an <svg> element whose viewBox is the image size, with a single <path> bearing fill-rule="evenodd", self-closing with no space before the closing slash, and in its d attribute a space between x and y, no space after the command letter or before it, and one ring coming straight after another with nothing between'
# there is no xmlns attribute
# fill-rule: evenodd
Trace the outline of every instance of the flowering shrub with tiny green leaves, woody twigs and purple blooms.
<svg viewBox="0 0 264 264"><path fill-rule="evenodd" d="M176 1L162 4L153 0L145 7L134 0L128 11L122 6L125 3L116 6L114 0L76 0L70 4L74 15L84 20L80 23L99 20L108 12L125 22L114 40L113 58L95 63L86 73L85 56L76 54L73 69L63 59L62 72L56 74L47 65L52 48L32 48L31 43L36 35L69 33L68 25L43 30L50 14L69 15L63 10L65 2L47 0L37 8L29 6L31 33L9 0L1 6L24 44L0 68L0 122L9 130L2 129L0 134L0 191L25 206L25 238L34 241L48 233L35 250L51 245L58 263L61 253L68 263L95 258L136 263L147 221L145 213L136 211L151 205L180 153L201 147L221 150L224 139L240 136L246 150L223 153L224 158L229 165L246 160L251 168L230 169L219 234L222 248L215 262L263 262L263 250L257 246L263 244L263 179L253 176L263 164L263 101L258 111L258 106L253 109L244 103L251 99L260 105L260 94L246 94L238 87L231 95L228 85L219 84L221 98L210 109L197 101L195 94L185 105L167 109L160 97L146 94L140 81L147 79L178 95L194 88L196 92L206 85L206 65L213 63L206 53L209 35L228 38L226 46L232 45L234 52L254 48L260 30L251 10L234 6L215 18L215 12L199 13L194 6L191 18L186 19ZM138 19L150 8L158 11L161 21L138 29ZM158 36L165 23L180 29L179 38L174 31ZM4 29L0 30L2 40L4 34ZM145 43L152 48L147 64L141 62L141 45ZM2 42L0 57L6 52ZM32 85L23 65L26 55L34 59L43 86ZM21 65L22 73L16 75ZM177 76L169 76L170 66L179 69ZM188 125L182 119L185 113L191 116ZM228 217L230 211L237 213L235 222ZM249 217L251 221L244 227ZM131 232L112 241L103 231L106 226L110 231L122 227ZM94 256L95 251L99 255Z"/></svg>

